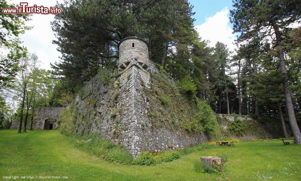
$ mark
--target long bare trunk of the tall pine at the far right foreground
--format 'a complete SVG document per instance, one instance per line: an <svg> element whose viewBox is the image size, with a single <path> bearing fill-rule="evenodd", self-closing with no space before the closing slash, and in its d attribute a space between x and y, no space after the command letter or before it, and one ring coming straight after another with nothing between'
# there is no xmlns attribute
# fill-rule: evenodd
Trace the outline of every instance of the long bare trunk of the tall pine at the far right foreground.
<svg viewBox="0 0 301 181"><path fill-rule="evenodd" d="M286 68L285 68L285 62L284 62L284 55L283 55L283 47L281 44L281 36L279 32L279 28L277 25L275 25L274 22L272 22L275 35L276 35L276 42L277 45L279 46L278 50L278 55L279 55L279 61L280 61L280 69L281 69L281 74L284 78L283 87L284 87L284 95L285 95L285 102L286 102L286 107L287 107L287 112L288 112L288 118L290 121L290 127L292 128L293 135L295 137L295 143L296 144L301 144L301 132L298 127L296 117L295 117L295 111L293 107L293 102L290 97L290 90L288 88L288 82L287 82L287 74L286 74Z"/></svg>

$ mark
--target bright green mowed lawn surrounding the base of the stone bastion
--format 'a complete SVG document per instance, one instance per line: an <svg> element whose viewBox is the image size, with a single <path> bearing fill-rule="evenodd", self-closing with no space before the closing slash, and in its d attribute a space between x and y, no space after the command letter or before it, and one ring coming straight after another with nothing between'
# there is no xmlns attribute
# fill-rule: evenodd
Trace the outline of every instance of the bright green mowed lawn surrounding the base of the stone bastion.
<svg viewBox="0 0 301 181"><path fill-rule="evenodd" d="M68 180L301 180L301 145L242 141L234 147L194 152L156 166L117 165L75 147L58 130L0 131L0 178L67 176ZM228 155L222 175L197 173L201 156ZM13 180L13 179L11 179ZM26 179L25 179L26 180ZM28 179L29 180L29 179ZM45 179L49 180L49 179Z"/></svg>

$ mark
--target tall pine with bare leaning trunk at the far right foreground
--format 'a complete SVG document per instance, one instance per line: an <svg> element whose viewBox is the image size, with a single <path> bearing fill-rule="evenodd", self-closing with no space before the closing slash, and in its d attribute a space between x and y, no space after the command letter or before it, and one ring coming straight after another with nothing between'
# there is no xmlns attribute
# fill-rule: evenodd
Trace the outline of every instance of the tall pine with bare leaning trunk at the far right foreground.
<svg viewBox="0 0 301 181"><path fill-rule="evenodd" d="M296 139L301 144L301 133L296 122L292 99L290 96L285 67L283 41L281 34L284 34L287 26L293 22L300 21L301 4L298 0L235 0L234 10L231 10L231 19L234 32L240 32L240 42L259 38L266 40L275 37L276 50L278 51L285 102L288 111L290 125Z"/></svg>

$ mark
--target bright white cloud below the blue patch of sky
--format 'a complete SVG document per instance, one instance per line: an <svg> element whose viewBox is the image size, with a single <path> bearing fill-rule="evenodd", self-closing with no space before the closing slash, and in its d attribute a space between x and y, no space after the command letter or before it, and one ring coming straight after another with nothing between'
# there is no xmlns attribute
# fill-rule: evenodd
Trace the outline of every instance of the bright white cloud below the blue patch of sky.
<svg viewBox="0 0 301 181"><path fill-rule="evenodd" d="M236 34L232 34L230 19L228 18L229 10L227 7L217 12L215 15L207 17L206 22L196 25L194 28L199 33L202 40L209 40L209 46L215 46L216 42L226 44L229 50L233 51L236 46L233 44Z"/></svg>

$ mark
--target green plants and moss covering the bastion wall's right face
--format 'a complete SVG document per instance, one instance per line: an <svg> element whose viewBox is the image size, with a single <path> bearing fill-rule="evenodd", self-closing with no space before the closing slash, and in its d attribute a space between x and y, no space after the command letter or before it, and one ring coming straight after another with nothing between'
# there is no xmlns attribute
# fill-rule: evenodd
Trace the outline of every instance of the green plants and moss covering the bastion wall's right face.
<svg viewBox="0 0 301 181"><path fill-rule="evenodd" d="M151 88L145 88L150 105L148 116L154 120L153 128L165 125L176 127L189 134L208 132L215 134L218 123L206 100L198 99L196 86L189 77L173 84L171 76L162 68L151 75ZM216 135L216 134L215 134Z"/></svg>

